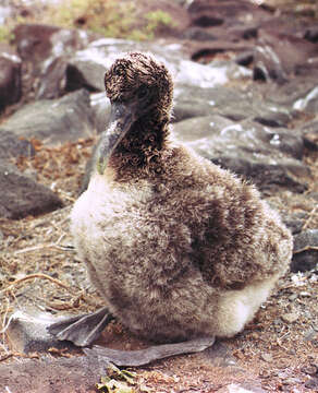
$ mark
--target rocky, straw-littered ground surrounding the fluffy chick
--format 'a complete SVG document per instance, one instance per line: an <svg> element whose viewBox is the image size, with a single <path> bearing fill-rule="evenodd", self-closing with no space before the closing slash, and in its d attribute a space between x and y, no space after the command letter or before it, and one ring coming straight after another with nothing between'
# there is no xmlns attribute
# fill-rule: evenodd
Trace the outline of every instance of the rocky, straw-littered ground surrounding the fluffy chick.
<svg viewBox="0 0 318 393"><path fill-rule="evenodd" d="M94 392L106 373L70 348L26 354L7 327L16 309L56 315L101 305L72 248L69 213L107 122L105 67L136 49L154 51L174 74L175 138L256 182L293 231L295 250L292 271L244 332L203 354L136 368L131 388L318 391L316 4L304 2L307 11L292 20L286 2L268 4L193 1L182 8L182 27L155 43L16 27L14 47L0 56L1 392ZM149 343L112 323L100 344Z"/></svg>

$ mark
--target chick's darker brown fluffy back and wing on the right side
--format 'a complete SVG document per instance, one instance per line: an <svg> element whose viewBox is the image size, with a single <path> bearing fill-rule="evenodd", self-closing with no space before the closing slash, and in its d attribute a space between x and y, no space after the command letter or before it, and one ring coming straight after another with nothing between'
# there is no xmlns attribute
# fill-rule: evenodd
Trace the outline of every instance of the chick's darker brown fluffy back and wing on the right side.
<svg viewBox="0 0 318 393"><path fill-rule="evenodd" d="M242 288L288 269L292 236L255 187L183 146L170 160L148 207L207 283ZM178 224L187 228L187 247L173 235Z"/></svg>

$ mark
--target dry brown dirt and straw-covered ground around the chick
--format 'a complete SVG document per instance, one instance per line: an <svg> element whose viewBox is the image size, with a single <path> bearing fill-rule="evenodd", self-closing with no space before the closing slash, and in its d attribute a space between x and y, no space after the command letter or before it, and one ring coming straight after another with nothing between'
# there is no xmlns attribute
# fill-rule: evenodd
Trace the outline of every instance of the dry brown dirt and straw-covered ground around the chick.
<svg viewBox="0 0 318 393"><path fill-rule="evenodd" d="M89 286L69 235L69 213L94 142L91 138L48 148L34 141L37 155L17 160L22 170L51 187L63 200L64 207L39 217L0 221L1 330L5 330L10 313L17 308L32 307L54 314L86 312L102 305ZM317 153L307 152L305 160L311 168L313 179L305 194L279 190L268 198L283 213L306 213L306 228L318 227L316 203L309 196L318 192L317 158ZM240 373L241 368L248 370L248 378L259 379L262 388L271 392L318 391L318 384L313 384L313 376L318 370L317 294L317 271L289 273L241 334L220 341L231 348L238 367L234 381L246 380L246 373ZM119 323L108 327L103 342L126 349L146 345ZM2 333L0 362L16 361L21 356L10 350L10 343ZM147 386L150 392L221 391L232 381L223 367L217 369L216 374L216 367L211 368L200 355L174 357L137 369L138 389L140 392L140 386Z"/></svg>

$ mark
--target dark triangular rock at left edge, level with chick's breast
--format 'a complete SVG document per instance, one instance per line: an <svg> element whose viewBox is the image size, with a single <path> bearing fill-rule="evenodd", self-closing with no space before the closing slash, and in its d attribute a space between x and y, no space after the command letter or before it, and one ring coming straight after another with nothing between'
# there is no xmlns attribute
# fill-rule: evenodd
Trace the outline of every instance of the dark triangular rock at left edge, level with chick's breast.
<svg viewBox="0 0 318 393"><path fill-rule="evenodd" d="M62 206L62 201L50 189L5 162L0 162L0 217L19 219Z"/></svg>

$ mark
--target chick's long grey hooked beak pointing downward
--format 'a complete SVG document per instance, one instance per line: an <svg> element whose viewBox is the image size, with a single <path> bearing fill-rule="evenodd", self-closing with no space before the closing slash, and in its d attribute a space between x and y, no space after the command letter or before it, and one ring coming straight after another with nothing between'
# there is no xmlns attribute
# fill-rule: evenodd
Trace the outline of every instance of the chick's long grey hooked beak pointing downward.
<svg viewBox="0 0 318 393"><path fill-rule="evenodd" d="M97 153L97 170L100 175L105 172L110 156L134 121L133 105L123 103L111 105L109 127L101 134Z"/></svg>

